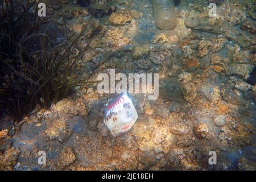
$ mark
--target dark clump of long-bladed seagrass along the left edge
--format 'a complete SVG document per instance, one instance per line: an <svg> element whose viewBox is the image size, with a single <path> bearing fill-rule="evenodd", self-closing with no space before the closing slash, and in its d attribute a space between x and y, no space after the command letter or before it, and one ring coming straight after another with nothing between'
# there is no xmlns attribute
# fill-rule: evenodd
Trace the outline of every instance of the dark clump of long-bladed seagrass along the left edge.
<svg viewBox="0 0 256 182"><path fill-rule="evenodd" d="M35 1L0 3L0 110L20 121L36 106L61 100L76 85L73 75L85 49L74 55L72 47L89 23L79 36L68 36L66 28L66 40L56 45L54 35L40 31L51 17L30 12L38 7Z"/></svg>

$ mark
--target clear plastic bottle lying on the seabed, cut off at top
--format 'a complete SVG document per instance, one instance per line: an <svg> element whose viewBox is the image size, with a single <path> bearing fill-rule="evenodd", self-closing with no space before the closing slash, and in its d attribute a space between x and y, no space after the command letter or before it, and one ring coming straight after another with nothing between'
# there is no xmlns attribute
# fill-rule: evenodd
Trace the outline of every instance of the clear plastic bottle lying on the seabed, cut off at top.
<svg viewBox="0 0 256 182"><path fill-rule="evenodd" d="M158 28L170 30L176 26L174 0L152 0L155 14L155 22Z"/></svg>

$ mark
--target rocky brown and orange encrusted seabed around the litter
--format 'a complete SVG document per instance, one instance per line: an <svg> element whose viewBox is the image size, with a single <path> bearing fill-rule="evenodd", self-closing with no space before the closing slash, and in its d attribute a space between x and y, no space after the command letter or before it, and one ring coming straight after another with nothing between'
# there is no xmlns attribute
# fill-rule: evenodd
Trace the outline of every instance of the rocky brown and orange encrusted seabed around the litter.
<svg viewBox="0 0 256 182"><path fill-rule="evenodd" d="M170 30L156 26L148 0L92 0L91 9L65 2L46 4L47 12L76 35L89 23L72 47L86 49L74 76L85 84L22 121L2 115L1 170L256 169L254 1L175 1ZM211 18L209 2L228 8ZM118 94L97 92L98 75L110 69L159 73L158 99L130 94L138 119L118 137L104 124Z"/></svg>

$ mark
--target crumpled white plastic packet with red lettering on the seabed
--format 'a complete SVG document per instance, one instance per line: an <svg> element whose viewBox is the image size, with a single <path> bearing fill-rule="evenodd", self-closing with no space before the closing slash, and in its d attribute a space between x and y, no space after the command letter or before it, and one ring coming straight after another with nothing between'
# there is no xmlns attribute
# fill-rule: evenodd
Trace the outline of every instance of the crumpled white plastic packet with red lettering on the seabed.
<svg viewBox="0 0 256 182"><path fill-rule="evenodd" d="M105 108L104 123L114 137L129 131L137 119L137 111L127 93L121 94Z"/></svg>

